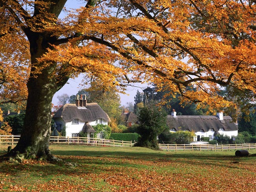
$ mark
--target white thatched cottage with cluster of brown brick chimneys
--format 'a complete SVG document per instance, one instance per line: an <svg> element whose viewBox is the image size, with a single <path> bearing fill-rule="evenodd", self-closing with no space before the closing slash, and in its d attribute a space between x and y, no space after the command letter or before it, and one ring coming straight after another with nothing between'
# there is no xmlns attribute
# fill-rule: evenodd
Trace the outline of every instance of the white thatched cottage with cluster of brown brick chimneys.
<svg viewBox="0 0 256 192"><path fill-rule="evenodd" d="M66 129L66 137L78 137L79 132L87 133L93 137L95 130L92 126L97 124L108 125L109 116L97 103L87 103L86 96L77 95L76 104L63 105L53 116L56 129ZM102 135L99 135L102 137Z"/></svg>

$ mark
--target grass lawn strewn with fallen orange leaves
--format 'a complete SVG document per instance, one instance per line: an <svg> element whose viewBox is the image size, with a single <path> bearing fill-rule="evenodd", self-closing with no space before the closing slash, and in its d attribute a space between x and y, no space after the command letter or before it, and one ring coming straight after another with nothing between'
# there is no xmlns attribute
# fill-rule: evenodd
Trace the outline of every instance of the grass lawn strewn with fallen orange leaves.
<svg viewBox="0 0 256 192"><path fill-rule="evenodd" d="M0 146L0 154L6 149ZM136 147L50 149L66 163L0 163L0 191L256 192L256 155Z"/></svg>

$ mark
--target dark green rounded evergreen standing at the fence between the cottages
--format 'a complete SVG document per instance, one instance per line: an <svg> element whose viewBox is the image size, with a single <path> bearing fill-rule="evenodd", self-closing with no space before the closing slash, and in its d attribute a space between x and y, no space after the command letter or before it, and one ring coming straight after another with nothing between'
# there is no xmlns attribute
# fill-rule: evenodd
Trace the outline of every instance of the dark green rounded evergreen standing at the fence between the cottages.
<svg viewBox="0 0 256 192"><path fill-rule="evenodd" d="M138 116L139 127L137 131L141 137L136 146L158 150L157 136L166 129L166 118L165 110L156 106L153 102L145 105Z"/></svg>

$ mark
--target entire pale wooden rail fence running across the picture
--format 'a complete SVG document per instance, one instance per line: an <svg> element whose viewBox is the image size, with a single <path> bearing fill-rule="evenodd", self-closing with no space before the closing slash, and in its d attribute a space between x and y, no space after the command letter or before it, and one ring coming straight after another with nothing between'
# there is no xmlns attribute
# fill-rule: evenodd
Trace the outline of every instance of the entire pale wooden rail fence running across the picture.
<svg viewBox="0 0 256 192"><path fill-rule="evenodd" d="M19 135L0 135L0 145L17 144ZM50 137L50 144L77 144L77 145L89 145L89 146L112 146L112 147L132 147L135 142L132 141L120 141L109 140L100 138L89 137ZM171 151L230 151L230 150L252 150L256 149L256 143L246 144L227 144L227 145L210 145L210 144L159 144L162 150Z"/></svg>

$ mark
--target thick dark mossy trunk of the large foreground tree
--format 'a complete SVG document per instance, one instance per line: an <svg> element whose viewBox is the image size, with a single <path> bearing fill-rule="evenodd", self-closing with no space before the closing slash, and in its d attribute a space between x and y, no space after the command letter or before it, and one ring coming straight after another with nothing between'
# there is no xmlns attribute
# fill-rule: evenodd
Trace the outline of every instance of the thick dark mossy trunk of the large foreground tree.
<svg viewBox="0 0 256 192"><path fill-rule="evenodd" d="M27 83L28 100L24 127L17 146L8 156L18 160L29 158L55 159L49 150L52 97L58 90L54 71L56 63L44 66L39 74L35 73L43 63L36 63L37 58L46 52L49 46L46 35L31 35L31 74Z"/></svg>

